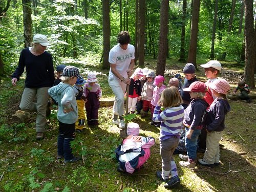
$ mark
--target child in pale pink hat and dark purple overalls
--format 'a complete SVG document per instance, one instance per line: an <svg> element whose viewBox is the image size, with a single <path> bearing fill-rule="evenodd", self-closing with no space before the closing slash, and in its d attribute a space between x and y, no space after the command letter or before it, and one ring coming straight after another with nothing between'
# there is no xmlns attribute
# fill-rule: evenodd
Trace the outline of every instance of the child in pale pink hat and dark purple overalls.
<svg viewBox="0 0 256 192"><path fill-rule="evenodd" d="M86 101L86 116L87 124L98 125L99 116L99 99L102 96L100 85L97 83L97 77L95 73L88 73L87 83L83 86L83 97Z"/></svg>

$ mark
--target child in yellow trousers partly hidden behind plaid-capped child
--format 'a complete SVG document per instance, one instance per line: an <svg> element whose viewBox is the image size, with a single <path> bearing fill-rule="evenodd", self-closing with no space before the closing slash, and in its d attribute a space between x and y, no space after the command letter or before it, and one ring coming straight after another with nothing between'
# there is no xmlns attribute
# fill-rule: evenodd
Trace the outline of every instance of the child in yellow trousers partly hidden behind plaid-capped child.
<svg viewBox="0 0 256 192"><path fill-rule="evenodd" d="M81 133L83 131L83 125L84 121L86 119L86 116L84 115L84 101L83 101L83 88L82 86L86 83L86 80L82 79L77 79L75 85L73 86L73 90L75 92L76 96L76 104L78 108L78 119L76 121L76 133Z"/></svg>

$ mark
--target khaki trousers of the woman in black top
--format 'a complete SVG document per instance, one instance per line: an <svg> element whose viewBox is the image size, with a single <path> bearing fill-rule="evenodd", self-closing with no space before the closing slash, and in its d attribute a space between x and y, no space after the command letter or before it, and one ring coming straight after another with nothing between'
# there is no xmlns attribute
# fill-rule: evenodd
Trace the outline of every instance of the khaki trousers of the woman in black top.
<svg viewBox="0 0 256 192"><path fill-rule="evenodd" d="M46 88L25 88L20 101L19 108L22 111L37 112L36 132L45 132L46 107L48 103L48 89ZM36 98L36 102L33 102Z"/></svg>

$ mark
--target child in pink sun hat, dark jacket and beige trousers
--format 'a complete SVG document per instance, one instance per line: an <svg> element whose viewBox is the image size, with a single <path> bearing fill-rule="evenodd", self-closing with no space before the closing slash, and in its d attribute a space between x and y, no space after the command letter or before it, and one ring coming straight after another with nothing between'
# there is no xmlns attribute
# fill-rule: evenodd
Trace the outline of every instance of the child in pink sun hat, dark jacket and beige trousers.
<svg viewBox="0 0 256 192"><path fill-rule="evenodd" d="M216 99L211 103L204 123L207 130L206 151L198 162L211 167L220 165L219 142L225 129L225 115L230 111L226 96L230 86L225 79L220 78L210 83L209 87Z"/></svg>

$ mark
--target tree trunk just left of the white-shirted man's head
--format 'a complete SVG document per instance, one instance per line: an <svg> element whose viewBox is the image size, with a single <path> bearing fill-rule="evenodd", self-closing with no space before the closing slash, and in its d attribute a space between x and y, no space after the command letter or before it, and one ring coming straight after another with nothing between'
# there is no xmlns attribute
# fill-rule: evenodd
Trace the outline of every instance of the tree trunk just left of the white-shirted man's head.
<svg viewBox="0 0 256 192"><path fill-rule="evenodd" d="M102 23L103 23L103 65L102 69L109 69L109 52L110 52L110 1L102 1Z"/></svg>

